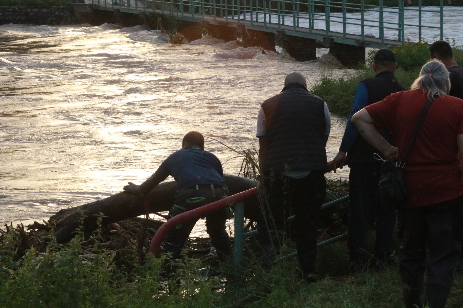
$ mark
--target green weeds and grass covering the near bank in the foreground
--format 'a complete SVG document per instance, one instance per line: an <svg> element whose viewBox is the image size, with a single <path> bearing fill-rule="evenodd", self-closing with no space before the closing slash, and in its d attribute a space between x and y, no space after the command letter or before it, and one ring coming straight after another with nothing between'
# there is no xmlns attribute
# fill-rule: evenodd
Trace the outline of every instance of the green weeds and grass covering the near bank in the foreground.
<svg viewBox="0 0 463 308"><path fill-rule="evenodd" d="M67 245L51 242L43 253L28 250L18 259L24 241L36 242L44 234L25 236L11 229L0 236L0 307L53 308L153 308L153 307L249 307L249 308L397 308L402 306L400 277L393 264L382 271L367 268L349 276L345 248L335 243L319 249L320 280L300 282L297 258L280 261L263 270L252 254L234 283L224 283L209 243L188 242L189 253L179 266L181 292L167 294L162 277L164 259L137 256L140 229L121 223L123 232L92 237L79 234ZM140 226L139 226L140 227ZM370 235L372 236L372 235ZM37 243L37 242L36 242ZM247 242L247 248L252 246ZM191 249L195 248L194 251ZM283 250L291 248L283 245ZM374 262L373 262L374 263ZM457 274L447 308L463 302L463 275Z"/></svg>

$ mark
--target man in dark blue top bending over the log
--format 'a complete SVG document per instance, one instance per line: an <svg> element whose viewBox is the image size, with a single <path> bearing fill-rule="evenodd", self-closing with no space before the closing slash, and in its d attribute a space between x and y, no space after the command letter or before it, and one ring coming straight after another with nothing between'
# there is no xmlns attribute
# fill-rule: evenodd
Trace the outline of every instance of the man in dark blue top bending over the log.
<svg viewBox="0 0 463 308"><path fill-rule="evenodd" d="M148 180L141 185L129 182L124 190L127 193L146 195L169 175L177 184L175 204L169 211L169 217L228 195L222 164L213 153L204 151L204 137L198 132L187 133L183 137L181 150L167 157ZM206 215L206 232L211 237L219 260L224 260L231 254L230 237L225 230L227 211L222 208ZM180 250L197 221L198 219L189 220L170 231L164 239L164 252L171 253L174 259L178 259Z"/></svg>

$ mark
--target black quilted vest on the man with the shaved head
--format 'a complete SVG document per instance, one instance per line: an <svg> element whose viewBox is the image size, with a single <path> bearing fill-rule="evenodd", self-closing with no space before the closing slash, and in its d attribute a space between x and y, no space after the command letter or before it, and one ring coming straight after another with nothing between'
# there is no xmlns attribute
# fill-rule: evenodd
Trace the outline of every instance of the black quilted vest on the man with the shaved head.
<svg viewBox="0 0 463 308"><path fill-rule="evenodd" d="M268 140L264 171L326 170L324 101L299 84L262 103Z"/></svg>

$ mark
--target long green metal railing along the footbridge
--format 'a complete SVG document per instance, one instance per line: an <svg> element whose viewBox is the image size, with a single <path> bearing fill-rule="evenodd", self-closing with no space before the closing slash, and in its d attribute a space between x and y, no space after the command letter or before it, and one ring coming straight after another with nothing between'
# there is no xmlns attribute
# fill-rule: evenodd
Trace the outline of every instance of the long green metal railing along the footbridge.
<svg viewBox="0 0 463 308"><path fill-rule="evenodd" d="M309 38L333 36L333 25L342 24L342 31L336 31L341 34L337 38L348 44L352 44L352 40L365 42L364 46L368 46L372 38L365 30L370 33L372 29L377 29L376 38L381 44L405 42L405 29L412 27L418 29L419 40L424 29L438 29L440 39L444 36L443 0L439 0L437 8L422 6L422 0L418 0L416 7L404 6L404 0L398 0L397 7L384 6L383 0L379 0L378 5L367 5L363 0L360 3L349 0L92 0L92 5L120 12L156 12L196 22L220 19L228 23L246 23L255 30L258 27L267 32L284 28L292 30L292 35ZM366 18L366 12L374 12L375 18ZM423 24L423 12L440 14L439 24ZM418 14L418 22L406 22L407 14ZM397 39L386 39L384 30L396 32Z"/></svg>

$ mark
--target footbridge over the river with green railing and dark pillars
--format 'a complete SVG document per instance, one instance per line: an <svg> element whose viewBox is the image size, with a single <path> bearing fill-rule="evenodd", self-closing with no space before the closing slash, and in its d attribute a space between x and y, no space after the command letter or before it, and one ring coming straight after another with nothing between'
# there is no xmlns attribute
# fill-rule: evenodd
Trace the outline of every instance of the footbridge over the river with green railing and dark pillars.
<svg viewBox="0 0 463 308"><path fill-rule="evenodd" d="M270 50L276 42L296 60L313 60L315 48L326 47L347 66L365 59L365 47L406 42L406 31L417 41L426 30L443 38L443 0L437 7L421 6L421 0L416 7L405 6L404 0L397 7L384 6L383 0L377 6L363 0L92 0L92 9L141 18L167 16L188 25L179 28L186 36L191 36L188 31L206 31ZM423 13L440 16L439 22L424 24Z"/></svg>

